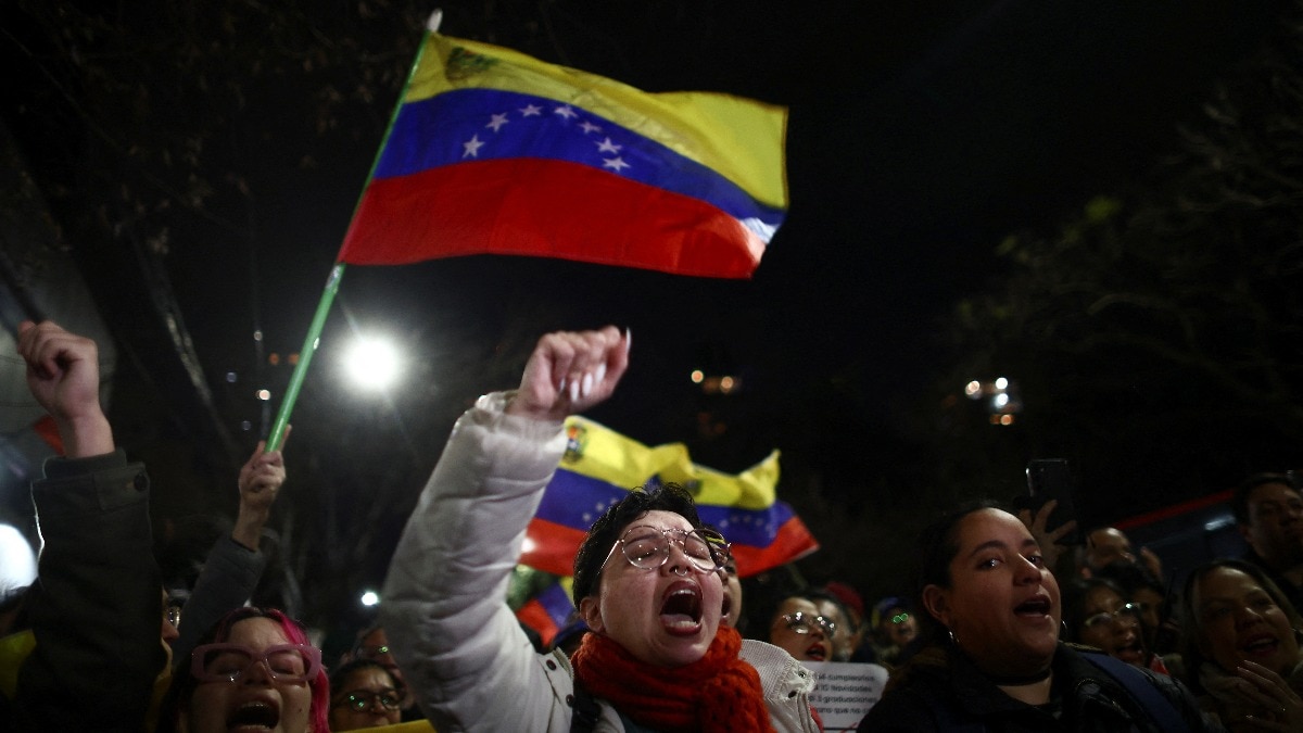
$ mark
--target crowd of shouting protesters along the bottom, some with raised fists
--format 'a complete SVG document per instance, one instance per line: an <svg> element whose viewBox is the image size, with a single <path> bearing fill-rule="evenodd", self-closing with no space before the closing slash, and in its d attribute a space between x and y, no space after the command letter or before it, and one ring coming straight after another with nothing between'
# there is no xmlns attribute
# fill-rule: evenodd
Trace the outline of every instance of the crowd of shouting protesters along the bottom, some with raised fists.
<svg viewBox="0 0 1303 733"><path fill-rule="evenodd" d="M929 524L915 587L872 605L837 580L743 583L688 492L633 490L589 530L577 612L543 647L507 583L562 420L612 394L629 347L612 327L549 334L517 389L480 398L408 520L378 622L326 659L287 613L249 605L281 453L258 446L229 533L185 582L164 578L95 343L22 323L64 455L31 489L38 579L0 608L3 728L813 732L812 668L833 663L890 673L860 730L1303 730L1303 498L1283 473L1234 492L1246 556L1178 592L1118 528L1065 546L1053 505L984 501Z"/></svg>

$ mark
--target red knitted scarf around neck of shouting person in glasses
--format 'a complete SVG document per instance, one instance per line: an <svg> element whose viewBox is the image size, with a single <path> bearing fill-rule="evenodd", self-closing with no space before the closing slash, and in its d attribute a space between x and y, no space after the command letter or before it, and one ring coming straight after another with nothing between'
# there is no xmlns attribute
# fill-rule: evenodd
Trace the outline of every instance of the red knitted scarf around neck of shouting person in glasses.
<svg viewBox="0 0 1303 733"><path fill-rule="evenodd" d="M657 730L773 733L760 674L737 657L741 636L721 625L706 655L684 666L653 666L601 634L588 634L571 661L595 698Z"/></svg>

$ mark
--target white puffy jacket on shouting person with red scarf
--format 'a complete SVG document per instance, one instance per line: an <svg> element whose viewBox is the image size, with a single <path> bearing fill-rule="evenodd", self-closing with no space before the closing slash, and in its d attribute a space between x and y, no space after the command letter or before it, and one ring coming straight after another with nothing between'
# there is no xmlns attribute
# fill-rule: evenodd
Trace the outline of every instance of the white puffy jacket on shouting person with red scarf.
<svg viewBox="0 0 1303 733"><path fill-rule="evenodd" d="M575 683L562 653L539 655L507 608L525 527L566 449L560 423L503 413L507 393L457 420L384 583L380 623L439 733L571 728ZM744 640L774 728L818 730L814 676L778 647ZM595 730L624 730L599 700Z"/></svg>

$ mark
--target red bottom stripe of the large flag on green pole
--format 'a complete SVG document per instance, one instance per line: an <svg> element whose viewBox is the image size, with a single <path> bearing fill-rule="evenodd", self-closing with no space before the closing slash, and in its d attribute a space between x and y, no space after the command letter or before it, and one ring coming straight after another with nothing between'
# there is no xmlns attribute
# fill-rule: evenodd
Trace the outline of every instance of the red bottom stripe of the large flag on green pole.
<svg viewBox="0 0 1303 733"><path fill-rule="evenodd" d="M373 180L339 260L523 254L748 278L764 250L754 233L701 200L576 163L512 158Z"/></svg>

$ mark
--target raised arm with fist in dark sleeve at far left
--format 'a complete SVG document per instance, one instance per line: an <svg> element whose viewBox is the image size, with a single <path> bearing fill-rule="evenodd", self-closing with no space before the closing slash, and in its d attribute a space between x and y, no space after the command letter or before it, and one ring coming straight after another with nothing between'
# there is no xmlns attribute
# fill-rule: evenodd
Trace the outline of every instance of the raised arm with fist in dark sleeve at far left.
<svg viewBox="0 0 1303 733"><path fill-rule="evenodd" d="M66 456L47 460L31 489L43 548L27 596L36 646L18 674L16 726L141 729L165 660L149 477L113 446L93 340L23 322L18 353Z"/></svg>

